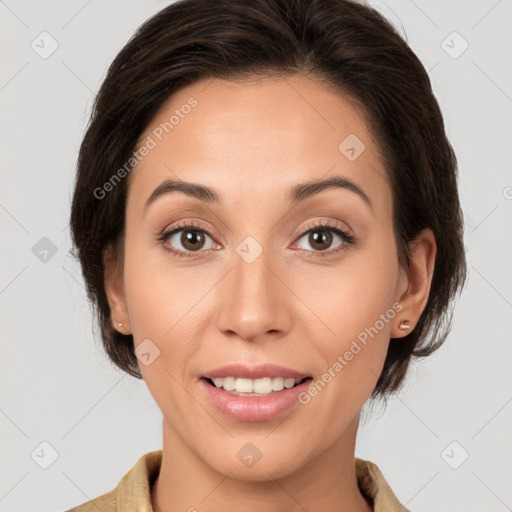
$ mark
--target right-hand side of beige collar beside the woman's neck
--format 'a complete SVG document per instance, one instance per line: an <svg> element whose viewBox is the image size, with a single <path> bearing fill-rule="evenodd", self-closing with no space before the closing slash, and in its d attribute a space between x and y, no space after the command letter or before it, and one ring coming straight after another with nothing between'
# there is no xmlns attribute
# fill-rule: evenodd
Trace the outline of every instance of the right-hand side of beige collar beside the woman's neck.
<svg viewBox="0 0 512 512"><path fill-rule="evenodd" d="M400 503L377 464L356 458L356 477L361 493L373 502L374 512L412 512Z"/></svg>

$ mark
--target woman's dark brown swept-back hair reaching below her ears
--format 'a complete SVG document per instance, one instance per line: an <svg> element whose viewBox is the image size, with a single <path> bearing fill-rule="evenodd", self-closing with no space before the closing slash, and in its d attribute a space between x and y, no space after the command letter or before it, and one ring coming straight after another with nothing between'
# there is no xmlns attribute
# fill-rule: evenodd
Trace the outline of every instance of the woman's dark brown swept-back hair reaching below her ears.
<svg viewBox="0 0 512 512"><path fill-rule="evenodd" d="M445 340L452 299L466 278L457 161L429 76L381 15L355 0L180 0L146 21L112 62L97 94L77 166L71 207L80 260L108 356L142 378L133 337L113 328L103 251L123 261L129 179L101 188L134 153L162 105L204 78L243 79L306 72L350 97L366 116L388 172L400 264L408 242L432 229L437 255L429 299L414 330L391 339L372 398L397 391L411 357Z"/></svg>

